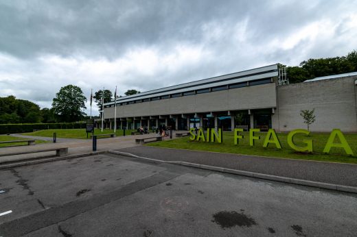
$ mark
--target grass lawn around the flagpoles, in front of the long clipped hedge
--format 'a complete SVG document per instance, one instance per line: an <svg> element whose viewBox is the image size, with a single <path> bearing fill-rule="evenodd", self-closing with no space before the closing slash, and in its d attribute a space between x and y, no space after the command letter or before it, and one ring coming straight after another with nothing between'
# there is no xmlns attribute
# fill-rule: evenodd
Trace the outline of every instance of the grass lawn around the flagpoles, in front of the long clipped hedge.
<svg viewBox="0 0 357 237"><path fill-rule="evenodd" d="M130 135L130 132L133 132L134 130L126 130L125 134ZM54 132L56 132L58 138L78 138L78 139L87 139L87 133L86 129L45 129L45 130L39 130L36 132L28 132L23 135L29 135L29 136L47 136L47 137L53 137ZM94 129L94 134L113 134L114 130L111 129L103 129L103 132L101 129ZM117 129L115 131L115 134L117 136L123 136L123 130L122 129ZM88 138L91 138L91 134L88 134Z"/></svg>

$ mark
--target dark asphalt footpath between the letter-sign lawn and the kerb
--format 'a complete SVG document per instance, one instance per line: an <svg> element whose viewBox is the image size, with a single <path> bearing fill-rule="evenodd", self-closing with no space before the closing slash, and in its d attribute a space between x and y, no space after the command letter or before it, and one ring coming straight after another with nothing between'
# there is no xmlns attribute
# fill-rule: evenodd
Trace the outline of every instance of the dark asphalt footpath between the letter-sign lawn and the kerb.
<svg viewBox="0 0 357 237"><path fill-rule="evenodd" d="M307 160L288 160L251 155L233 155L205 151L188 151L157 147L128 147L119 149L146 158L207 164L240 171L250 171L328 184L357 186L357 165Z"/></svg>

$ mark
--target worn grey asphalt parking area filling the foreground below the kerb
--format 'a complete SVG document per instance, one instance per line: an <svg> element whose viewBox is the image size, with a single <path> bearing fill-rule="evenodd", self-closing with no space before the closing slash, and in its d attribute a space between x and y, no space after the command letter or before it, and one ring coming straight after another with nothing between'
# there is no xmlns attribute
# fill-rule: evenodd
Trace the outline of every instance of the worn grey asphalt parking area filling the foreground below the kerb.
<svg viewBox="0 0 357 237"><path fill-rule="evenodd" d="M357 195L119 155L0 171L0 236L354 236Z"/></svg>

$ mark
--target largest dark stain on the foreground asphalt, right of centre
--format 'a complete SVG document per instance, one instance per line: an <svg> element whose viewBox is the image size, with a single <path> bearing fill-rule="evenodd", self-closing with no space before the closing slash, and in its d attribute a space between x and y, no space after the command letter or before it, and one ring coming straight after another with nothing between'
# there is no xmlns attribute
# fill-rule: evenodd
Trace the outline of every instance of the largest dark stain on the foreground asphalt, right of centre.
<svg viewBox="0 0 357 237"><path fill-rule="evenodd" d="M217 212L213 215L213 217L214 220L212 222L215 222L216 224L220 225L222 229L231 228L235 225L238 225L240 227L251 227L252 225L257 225L253 218L247 216L243 212L238 213L235 211L222 211Z"/></svg>

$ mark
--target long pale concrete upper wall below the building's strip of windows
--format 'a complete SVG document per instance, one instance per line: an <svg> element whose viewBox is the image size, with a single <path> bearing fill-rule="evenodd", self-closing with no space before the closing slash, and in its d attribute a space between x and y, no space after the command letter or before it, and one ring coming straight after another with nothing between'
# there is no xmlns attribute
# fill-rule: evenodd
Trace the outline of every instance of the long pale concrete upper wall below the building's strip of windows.
<svg viewBox="0 0 357 237"><path fill-rule="evenodd" d="M276 106L276 86L275 83L270 83L117 106L117 118L275 108ZM114 107L104 108L104 118L114 118Z"/></svg>

